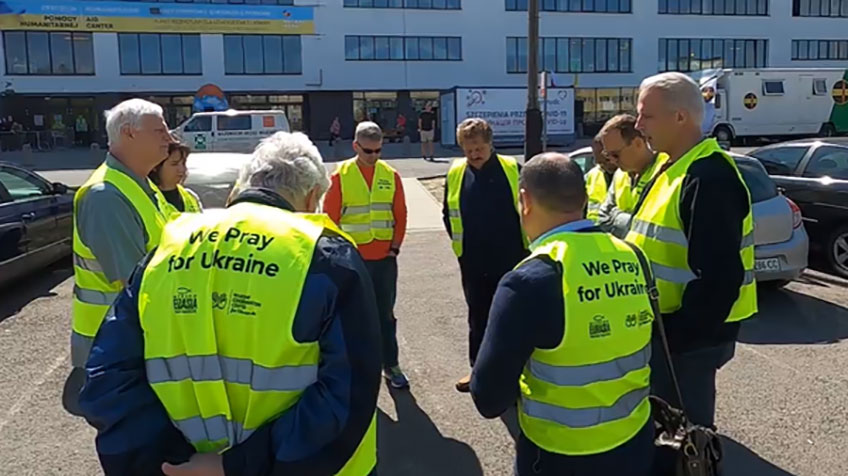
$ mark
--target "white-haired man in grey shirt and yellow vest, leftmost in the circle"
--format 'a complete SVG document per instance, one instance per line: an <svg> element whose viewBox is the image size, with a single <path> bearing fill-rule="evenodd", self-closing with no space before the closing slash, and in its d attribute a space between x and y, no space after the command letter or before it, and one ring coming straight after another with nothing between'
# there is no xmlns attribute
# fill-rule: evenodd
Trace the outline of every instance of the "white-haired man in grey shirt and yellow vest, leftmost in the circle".
<svg viewBox="0 0 848 476"><path fill-rule="evenodd" d="M138 261L159 244L165 223L147 178L171 142L162 107L124 101L106 111L106 132L106 160L74 196L74 368L85 365L106 311Z"/></svg>

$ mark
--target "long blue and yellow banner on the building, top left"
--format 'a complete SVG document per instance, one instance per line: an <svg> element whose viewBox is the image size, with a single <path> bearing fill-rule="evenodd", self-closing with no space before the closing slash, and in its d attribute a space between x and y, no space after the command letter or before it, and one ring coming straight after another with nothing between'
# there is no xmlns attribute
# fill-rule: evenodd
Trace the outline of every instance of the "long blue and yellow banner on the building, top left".
<svg viewBox="0 0 848 476"><path fill-rule="evenodd" d="M315 33L312 7L0 0L0 30L132 33Z"/></svg>

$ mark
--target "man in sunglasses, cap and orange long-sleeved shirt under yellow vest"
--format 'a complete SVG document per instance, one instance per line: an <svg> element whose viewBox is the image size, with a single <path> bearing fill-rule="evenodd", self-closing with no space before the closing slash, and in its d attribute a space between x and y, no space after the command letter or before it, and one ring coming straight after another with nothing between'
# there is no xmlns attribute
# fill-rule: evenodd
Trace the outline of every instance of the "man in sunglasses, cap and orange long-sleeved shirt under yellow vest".
<svg viewBox="0 0 848 476"><path fill-rule="evenodd" d="M371 275L380 314L383 376L394 388L409 380L398 364L397 255L406 234L406 199L400 175L380 160L383 131L360 122L354 134L356 157L339 164L324 198L324 212L356 242Z"/></svg>

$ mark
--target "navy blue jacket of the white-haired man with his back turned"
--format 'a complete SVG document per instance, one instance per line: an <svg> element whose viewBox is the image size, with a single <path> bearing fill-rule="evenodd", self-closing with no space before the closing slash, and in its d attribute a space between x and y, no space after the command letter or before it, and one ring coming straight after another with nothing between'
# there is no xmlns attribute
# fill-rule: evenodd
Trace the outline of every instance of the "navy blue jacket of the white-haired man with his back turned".
<svg viewBox="0 0 848 476"><path fill-rule="evenodd" d="M247 190L239 202L293 210L264 190ZM106 475L161 475L162 462L184 462L194 453L147 383L137 300L151 256L107 315L86 365L80 406L98 430ZM227 475L335 474L371 423L381 368L374 291L356 248L332 232L318 240L293 334L299 342L318 342L318 380L294 406L224 453Z"/></svg>

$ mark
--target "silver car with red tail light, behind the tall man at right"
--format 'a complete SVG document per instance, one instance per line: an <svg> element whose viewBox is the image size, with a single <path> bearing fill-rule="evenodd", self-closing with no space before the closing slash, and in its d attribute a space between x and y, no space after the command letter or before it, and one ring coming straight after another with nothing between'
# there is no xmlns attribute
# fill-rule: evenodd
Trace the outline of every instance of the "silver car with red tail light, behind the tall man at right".
<svg viewBox="0 0 848 476"><path fill-rule="evenodd" d="M807 267L809 238L801 210L778 192L766 169L755 159L730 154L751 192L754 214L754 271L758 282L782 286L797 278ZM592 149L570 154L584 172L594 167Z"/></svg>

